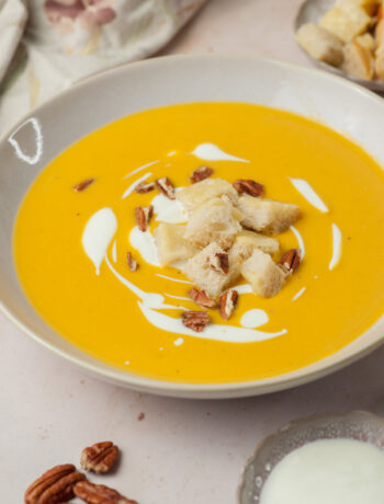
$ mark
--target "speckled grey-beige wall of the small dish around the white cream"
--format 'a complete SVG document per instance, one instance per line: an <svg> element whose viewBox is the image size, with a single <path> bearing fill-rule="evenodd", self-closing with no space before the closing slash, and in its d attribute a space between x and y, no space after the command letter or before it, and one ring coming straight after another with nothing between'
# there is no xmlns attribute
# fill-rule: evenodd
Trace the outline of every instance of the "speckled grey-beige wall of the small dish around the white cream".
<svg viewBox="0 0 384 504"><path fill-rule="evenodd" d="M291 422L261 442L249 459L238 492L239 504L259 502L269 474L291 451L318 439L338 438L371 443L383 449L384 420L364 411L352 411Z"/></svg>

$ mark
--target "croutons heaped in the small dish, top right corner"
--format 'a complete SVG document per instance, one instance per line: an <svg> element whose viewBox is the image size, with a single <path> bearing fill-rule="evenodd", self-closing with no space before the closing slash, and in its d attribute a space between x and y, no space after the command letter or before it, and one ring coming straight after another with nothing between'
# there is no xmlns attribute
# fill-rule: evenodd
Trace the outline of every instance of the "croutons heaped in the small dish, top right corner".
<svg viewBox="0 0 384 504"><path fill-rule="evenodd" d="M315 59L364 80L384 80L383 0L337 0L318 24L303 24L298 44Z"/></svg>

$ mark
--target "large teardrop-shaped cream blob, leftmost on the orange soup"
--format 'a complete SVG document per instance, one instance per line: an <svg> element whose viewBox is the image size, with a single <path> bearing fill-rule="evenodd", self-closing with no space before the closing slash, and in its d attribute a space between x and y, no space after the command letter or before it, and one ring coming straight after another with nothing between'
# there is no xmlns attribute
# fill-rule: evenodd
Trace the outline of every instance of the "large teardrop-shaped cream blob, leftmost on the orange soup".
<svg viewBox="0 0 384 504"><path fill-rule="evenodd" d="M117 219L111 208L101 208L88 220L82 232L82 248L100 275L100 266L115 232Z"/></svg>

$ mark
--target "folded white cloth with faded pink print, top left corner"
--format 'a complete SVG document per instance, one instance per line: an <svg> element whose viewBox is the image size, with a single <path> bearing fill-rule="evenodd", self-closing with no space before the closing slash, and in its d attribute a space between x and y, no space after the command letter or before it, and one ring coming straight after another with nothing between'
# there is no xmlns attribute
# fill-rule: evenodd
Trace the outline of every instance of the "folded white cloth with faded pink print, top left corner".
<svg viewBox="0 0 384 504"><path fill-rule="evenodd" d="M205 0L0 0L0 134L86 77L146 58Z"/></svg>

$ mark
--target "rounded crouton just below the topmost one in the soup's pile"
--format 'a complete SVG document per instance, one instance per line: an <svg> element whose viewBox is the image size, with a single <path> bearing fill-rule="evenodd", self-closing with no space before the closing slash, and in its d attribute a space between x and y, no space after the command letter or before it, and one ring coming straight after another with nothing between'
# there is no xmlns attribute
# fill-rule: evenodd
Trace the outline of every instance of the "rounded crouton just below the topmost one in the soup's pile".
<svg viewBox="0 0 384 504"><path fill-rule="evenodd" d="M221 198L210 199L191 214L184 238L199 248L216 242L227 250L241 231L238 218L242 215L230 203Z"/></svg>

